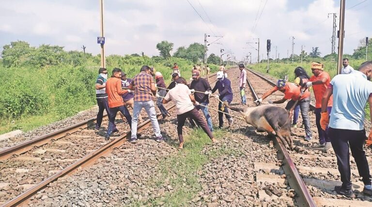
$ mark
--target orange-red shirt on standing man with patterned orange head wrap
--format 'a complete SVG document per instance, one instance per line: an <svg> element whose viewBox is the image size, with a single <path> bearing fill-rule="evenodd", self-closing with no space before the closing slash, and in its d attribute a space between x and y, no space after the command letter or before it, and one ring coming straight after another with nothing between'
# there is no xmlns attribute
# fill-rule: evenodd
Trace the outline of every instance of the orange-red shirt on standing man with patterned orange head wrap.
<svg viewBox="0 0 372 207"><path fill-rule="evenodd" d="M327 89L329 83L331 82L331 77L329 77L328 73L322 72L318 76L311 76L309 80L313 82L313 81L320 80L322 78L327 79L325 83L312 85L312 89L314 91L314 96L315 96L315 108L317 109L322 108L322 98L323 98L323 95L325 94L325 90ZM332 106L332 104L333 104L333 96L329 97L327 106Z"/></svg>

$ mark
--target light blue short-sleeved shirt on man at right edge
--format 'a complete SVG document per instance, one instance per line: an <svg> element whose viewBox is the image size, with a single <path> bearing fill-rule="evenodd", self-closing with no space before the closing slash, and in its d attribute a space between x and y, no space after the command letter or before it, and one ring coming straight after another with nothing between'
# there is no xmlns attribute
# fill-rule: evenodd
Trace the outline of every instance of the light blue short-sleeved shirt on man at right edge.
<svg viewBox="0 0 372 207"><path fill-rule="evenodd" d="M355 70L351 74L335 76L329 85L333 92L333 107L329 127L362 130L368 98L372 96L372 82Z"/></svg>

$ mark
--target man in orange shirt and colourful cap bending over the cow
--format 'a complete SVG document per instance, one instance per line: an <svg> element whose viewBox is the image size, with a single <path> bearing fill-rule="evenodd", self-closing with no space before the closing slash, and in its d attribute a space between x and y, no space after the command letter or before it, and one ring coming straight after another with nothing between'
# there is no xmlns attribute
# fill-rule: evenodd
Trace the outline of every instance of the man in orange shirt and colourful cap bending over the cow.
<svg viewBox="0 0 372 207"><path fill-rule="evenodd" d="M271 101L268 100L268 103L275 103L275 104L281 104L284 103L286 100L290 99L288 101L287 106L285 107L286 110L291 110L290 114L292 117L292 109L294 107L294 103L296 100L298 100L298 103L300 105L301 110L301 116L302 116L302 122L305 125L305 132L306 137L305 140L310 141L312 139L312 132L310 129L310 119L309 119L309 108L310 108L310 92L309 90L305 90L303 93L301 93L301 87L297 86L295 83L287 82L286 80L279 79L277 82L277 85L271 89L270 91L263 94L261 98L256 100L256 103L261 103L263 99L265 99L267 96L270 96L272 93L276 91L281 91L284 93L284 97L278 101Z"/></svg>

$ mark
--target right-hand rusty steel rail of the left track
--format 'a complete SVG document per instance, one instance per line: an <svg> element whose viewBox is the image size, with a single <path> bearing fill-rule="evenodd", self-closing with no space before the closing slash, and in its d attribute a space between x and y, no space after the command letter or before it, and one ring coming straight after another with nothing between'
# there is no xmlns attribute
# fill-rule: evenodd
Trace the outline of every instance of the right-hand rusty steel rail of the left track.
<svg viewBox="0 0 372 207"><path fill-rule="evenodd" d="M230 68L230 69L232 69L232 68ZM230 70L230 69L228 69L228 70ZM210 77L214 77L216 75L217 74L215 73L215 74L212 74ZM213 83L215 81L217 81L217 79L213 80L211 83ZM167 111L173 109L174 107L175 107L175 105L171 105L170 107L167 108ZM161 113L156 114L157 118L159 118L160 116L161 116ZM142 122L138 126L138 132L141 132L143 129L149 127L150 125L151 125L151 120L147 119L146 121ZM95 150L94 152L84 156L83 158L78 159L78 161L76 161L76 162L72 163L71 165L67 166L66 168L64 168L60 172L48 177L47 179L43 180L42 182L40 182L36 186L33 186L29 190L19 194L18 196L16 196L12 200L3 204L1 207L15 207L15 206L19 206L19 205L24 204L36 192L38 192L38 191L44 189L45 187L47 187L47 185L49 183L57 180L60 177L63 177L64 175L71 175L74 172L78 171L79 169L93 164L100 157L105 156L106 154L109 154L110 152L112 152L114 148L120 147L121 145L123 145L123 143L126 140L126 137L129 136L129 135L130 135L130 131L126 131L124 134L122 134L121 136L119 136L115 140L112 140L111 142L105 144L104 146L98 148L97 150Z"/></svg>

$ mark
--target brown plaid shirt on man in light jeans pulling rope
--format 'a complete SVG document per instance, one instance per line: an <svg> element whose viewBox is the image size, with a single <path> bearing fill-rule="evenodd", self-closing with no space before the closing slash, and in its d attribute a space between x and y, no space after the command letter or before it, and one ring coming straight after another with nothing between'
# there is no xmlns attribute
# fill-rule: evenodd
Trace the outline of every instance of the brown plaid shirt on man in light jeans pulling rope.
<svg viewBox="0 0 372 207"><path fill-rule="evenodd" d="M154 83L154 78L145 72L140 72L136 75L130 84L135 87L134 101L150 101L152 100L153 92L151 84Z"/></svg>

